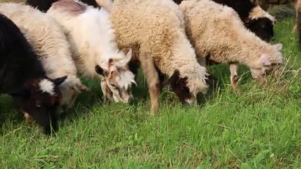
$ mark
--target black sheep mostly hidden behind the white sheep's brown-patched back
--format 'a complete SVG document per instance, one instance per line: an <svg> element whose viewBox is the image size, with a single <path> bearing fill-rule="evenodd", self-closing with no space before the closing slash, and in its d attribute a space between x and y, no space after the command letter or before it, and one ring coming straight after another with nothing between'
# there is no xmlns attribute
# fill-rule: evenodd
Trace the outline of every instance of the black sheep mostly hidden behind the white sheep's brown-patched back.
<svg viewBox="0 0 301 169"><path fill-rule="evenodd" d="M42 12L47 12L51 4L58 0L26 0L26 4L37 7ZM88 5L99 7L95 0L80 0Z"/></svg>

